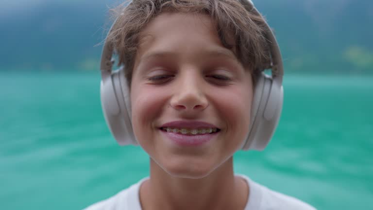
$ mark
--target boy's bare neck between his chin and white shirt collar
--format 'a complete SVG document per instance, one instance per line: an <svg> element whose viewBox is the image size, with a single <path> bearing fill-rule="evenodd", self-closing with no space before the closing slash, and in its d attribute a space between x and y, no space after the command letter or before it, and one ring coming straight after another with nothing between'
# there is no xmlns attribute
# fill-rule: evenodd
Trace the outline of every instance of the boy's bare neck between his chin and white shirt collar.
<svg viewBox="0 0 373 210"><path fill-rule="evenodd" d="M234 175L232 157L201 179L174 177L150 162L151 178L140 187L142 210L243 210L247 203L249 187Z"/></svg>

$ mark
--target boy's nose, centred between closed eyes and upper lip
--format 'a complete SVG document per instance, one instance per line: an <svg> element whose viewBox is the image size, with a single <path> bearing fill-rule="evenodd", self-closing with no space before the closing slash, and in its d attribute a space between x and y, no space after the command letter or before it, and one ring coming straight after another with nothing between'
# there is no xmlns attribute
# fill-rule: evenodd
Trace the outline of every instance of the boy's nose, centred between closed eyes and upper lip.
<svg viewBox="0 0 373 210"><path fill-rule="evenodd" d="M170 105L176 110L202 111L208 106L203 91L203 78L188 73L180 76L174 89Z"/></svg>

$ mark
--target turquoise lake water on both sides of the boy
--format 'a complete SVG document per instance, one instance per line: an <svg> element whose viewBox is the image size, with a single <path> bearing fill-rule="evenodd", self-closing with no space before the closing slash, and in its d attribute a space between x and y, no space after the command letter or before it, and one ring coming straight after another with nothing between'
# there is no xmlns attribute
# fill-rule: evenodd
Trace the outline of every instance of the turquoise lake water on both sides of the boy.
<svg viewBox="0 0 373 210"><path fill-rule="evenodd" d="M148 175L104 123L100 75L0 72L0 209L78 210ZM320 210L373 209L373 77L287 76L282 118L235 170Z"/></svg>

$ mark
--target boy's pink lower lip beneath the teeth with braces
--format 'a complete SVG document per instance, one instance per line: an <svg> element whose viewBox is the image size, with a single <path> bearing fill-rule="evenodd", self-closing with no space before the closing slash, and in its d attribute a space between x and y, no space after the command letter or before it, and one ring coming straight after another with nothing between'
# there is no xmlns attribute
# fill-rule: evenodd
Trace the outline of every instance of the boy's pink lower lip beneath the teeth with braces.
<svg viewBox="0 0 373 210"><path fill-rule="evenodd" d="M180 146L201 146L212 140L219 132L202 135L184 135L180 133L171 133L161 130L168 139Z"/></svg>

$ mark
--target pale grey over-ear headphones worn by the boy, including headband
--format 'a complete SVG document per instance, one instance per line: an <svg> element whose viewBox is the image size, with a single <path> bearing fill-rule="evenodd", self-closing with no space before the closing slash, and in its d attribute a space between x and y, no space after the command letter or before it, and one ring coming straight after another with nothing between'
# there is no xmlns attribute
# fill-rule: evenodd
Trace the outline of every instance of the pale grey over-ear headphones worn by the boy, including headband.
<svg viewBox="0 0 373 210"><path fill-rule="evenodd" d="M240 0L244 7L260 13L251 0ZM115 22L114 22L115 24ZM113 24L113 25L114 25ZM242 142L242 150L263 150L271 140L280 119L283 105L282 77L284 74L280 49L277 41L267 25L270 47L271 76L264 72L259 75L254 88L254 98L251 111L250 132ZM109 31L110 34L110 31ZM130 91L124 76L123 67L112 71L114 47L106 41L101 57L101 103L105 121L111 133L120 145L138 144L131 123ZM264 70L264 69L263 69Z"/></svg>

